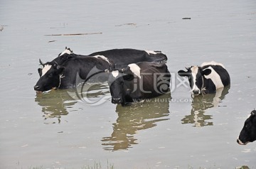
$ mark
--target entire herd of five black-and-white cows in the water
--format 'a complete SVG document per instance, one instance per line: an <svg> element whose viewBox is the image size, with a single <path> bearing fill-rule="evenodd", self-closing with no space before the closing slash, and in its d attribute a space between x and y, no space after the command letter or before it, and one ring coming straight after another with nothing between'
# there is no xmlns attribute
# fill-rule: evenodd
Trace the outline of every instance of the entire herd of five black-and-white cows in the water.
<svg viewBox="0 0 256 169"><path fill-rule="evenodd" d="M113 49L78 55L65 48L50 62L39 60L43 68L38 68L40 78L34 89L41 93L76 87L88 80L107 81L112 103L124 106L169 92L171 74L166 60L164 53L154 50ZM186 71L179 70L178 75L188 77L193 97L214 93L216 89L230 85L227 70L223 64L214 61L203 62L200 67L186 67ZM245 145L255 140L256 110L253 110L237 142Z"/></svg>

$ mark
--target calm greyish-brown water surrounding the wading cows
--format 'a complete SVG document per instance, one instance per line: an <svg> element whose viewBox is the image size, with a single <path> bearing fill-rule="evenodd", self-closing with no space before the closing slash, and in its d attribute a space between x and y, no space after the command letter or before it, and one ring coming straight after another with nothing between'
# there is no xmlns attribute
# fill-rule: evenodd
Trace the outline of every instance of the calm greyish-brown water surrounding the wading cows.
<svg viewBox="0 0 256 169"><path fill-rule="evenodd" d="M236 143L256 101L255 9L253 0L1 1L0 168L256 168L256 144ZM102 34L45 36L70 33ZM65 46L161 50L171 97L120 107L105 84L87 97L79 87L36 94L38 59ZM210 60L225 65L230 89L192 99L176 72Z"/></svg>

